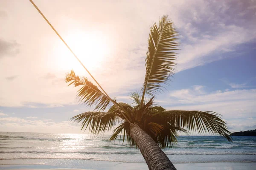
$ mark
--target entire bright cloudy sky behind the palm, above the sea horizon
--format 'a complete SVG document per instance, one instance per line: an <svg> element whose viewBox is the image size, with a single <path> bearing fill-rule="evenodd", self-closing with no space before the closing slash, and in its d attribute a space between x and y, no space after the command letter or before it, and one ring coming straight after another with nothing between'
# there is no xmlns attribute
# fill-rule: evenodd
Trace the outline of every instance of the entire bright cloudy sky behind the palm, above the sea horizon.
<svg viewBox="0 0 256 170"><path fill-rule="evenodd" d="M215 111L231 132L256 129L256 0L34 2L109 96L128 103L143 85L149 28L168 14L181 46L155 102ZM0 25L0 131L83 133L69 119L93 107L64 78L89 75L29 0L0 0Z"/></svg>

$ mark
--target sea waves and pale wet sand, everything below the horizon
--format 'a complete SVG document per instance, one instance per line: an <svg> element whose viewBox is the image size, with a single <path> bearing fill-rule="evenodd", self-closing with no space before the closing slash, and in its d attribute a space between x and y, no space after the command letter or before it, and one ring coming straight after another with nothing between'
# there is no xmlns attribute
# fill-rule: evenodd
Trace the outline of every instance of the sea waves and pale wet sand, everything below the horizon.
<svg viewBox="0 0 256 170"><path fill-rule="evenodd" d="M147 170L137 148L109 135L0 133L0 169ZM256 169L256 137L180 136L164 152L177 170Z"/></svg>

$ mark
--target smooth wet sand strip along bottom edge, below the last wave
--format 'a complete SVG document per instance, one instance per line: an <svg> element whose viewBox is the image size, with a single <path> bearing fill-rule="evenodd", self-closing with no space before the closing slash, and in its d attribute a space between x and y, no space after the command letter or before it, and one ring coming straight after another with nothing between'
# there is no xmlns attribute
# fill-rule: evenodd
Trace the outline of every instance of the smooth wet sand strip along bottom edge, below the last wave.
<svg viewBox="0 0 256 170"><path fill-rule="evenodd" d="M56 161L56 160L55 160ZM1 164L0 170L148 170L145 163L125 163L110 161L70 161L56 164L53 160L41 164ZM10 162L11 163L11 162ZM255 170L256 162L212 162L212 163L176 163L177 170Z"/></svg>

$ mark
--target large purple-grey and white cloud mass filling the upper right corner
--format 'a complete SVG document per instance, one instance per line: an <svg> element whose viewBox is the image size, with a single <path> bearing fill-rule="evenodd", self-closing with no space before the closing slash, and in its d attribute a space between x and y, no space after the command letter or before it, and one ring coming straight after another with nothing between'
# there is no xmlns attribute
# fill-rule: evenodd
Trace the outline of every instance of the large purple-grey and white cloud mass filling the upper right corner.
<svg viewBox="0 0 256 170"><path fill-rule="evenodd" d="M239 50L237 45L255 40L252 23L256 19L253 9L247 9L253 5L250 3L203 0L177 3L177 11L173 11L177 12L175 19L180 19L175 20L181 34L177 71L223 59L229 56L227 52ZM239 16L238 11L246 13Z"/></svg>

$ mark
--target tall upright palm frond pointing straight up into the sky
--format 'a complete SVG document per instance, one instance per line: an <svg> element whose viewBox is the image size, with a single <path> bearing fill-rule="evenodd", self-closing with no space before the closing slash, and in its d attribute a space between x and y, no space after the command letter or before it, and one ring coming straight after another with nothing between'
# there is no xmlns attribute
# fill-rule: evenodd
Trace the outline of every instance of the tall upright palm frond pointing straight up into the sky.
<svg viewBox="0 0 256 170"><path fill-rule="evenodd" d="M148 51L146 53L146 74L142 87L142 101L145 93L153 93L161 90L160 83L165 83L174 74L176 65L176 51L179 46L178 34L174 24L165 15L150 29L148 38Z"/></svg>

